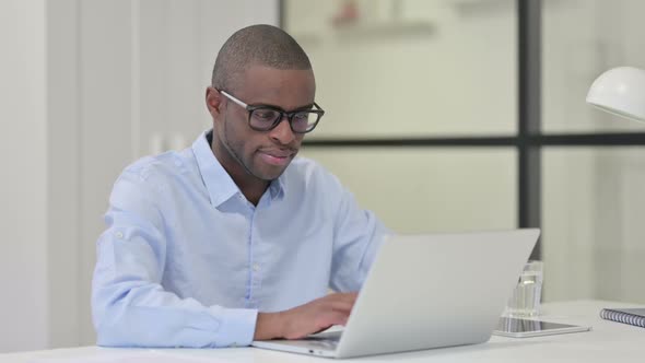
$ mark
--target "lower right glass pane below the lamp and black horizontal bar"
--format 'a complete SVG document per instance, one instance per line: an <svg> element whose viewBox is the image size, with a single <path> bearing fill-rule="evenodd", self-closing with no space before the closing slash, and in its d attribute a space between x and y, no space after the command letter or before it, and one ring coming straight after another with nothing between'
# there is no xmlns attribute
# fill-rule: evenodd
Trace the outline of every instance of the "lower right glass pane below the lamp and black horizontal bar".
<svg viewBox="0 0 645 363"><path fill-rule="evenodd" d="M543 152L544 298L645 303L645 150Z"/></svg>

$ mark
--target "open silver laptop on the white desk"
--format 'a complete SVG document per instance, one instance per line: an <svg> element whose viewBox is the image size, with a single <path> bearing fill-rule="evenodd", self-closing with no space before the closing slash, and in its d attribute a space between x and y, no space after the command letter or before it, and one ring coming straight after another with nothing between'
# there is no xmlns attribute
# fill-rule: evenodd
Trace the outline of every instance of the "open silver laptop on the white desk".
<svg viewBox="0 0 645 363"><path fill-rule="evenodd" d="M485 342L539 234L388 236L342 331L251 346L351 358Z"/></svg>

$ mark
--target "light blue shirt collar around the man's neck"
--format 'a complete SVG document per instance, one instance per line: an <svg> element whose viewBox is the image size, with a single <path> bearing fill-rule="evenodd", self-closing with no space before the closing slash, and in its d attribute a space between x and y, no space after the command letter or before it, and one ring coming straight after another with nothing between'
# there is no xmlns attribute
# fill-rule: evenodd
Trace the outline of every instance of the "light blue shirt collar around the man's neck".
<svg viewBox="0 0 645 363"><path fill-rule="evenodd" d="M197 166L213 207L220 207L223 202L242 191L215 157L209 143L209 133L212 130L202 132L192 143L192 153L197 160ZM284 173L269 185L269 194L272 200L284 198Z"/></svg>

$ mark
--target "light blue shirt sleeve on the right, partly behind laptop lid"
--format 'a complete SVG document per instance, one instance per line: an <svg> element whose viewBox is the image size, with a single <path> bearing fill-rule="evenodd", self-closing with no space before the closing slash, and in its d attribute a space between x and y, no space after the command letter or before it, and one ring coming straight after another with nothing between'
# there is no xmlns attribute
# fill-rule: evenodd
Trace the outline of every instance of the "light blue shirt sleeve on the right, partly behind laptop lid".
<svg viewBox="0 0 645 363"><path fill-rule="evenodd" d="M373 212L361 209L354 196L336 177L335 182L339 200L330 288L339 292L359 291L384 237L392 232Z"/></svg>

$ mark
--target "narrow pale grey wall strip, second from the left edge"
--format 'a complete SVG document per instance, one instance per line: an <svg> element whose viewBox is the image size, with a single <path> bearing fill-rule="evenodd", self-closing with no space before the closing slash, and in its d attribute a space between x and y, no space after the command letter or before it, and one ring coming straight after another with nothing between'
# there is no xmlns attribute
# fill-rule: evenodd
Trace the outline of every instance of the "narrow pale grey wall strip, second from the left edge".
<svg viewBox="0 0 645 363"><path fill-rule="evenodd" d="M48 346L79 341L79 0L46 2Z"/></svg>

